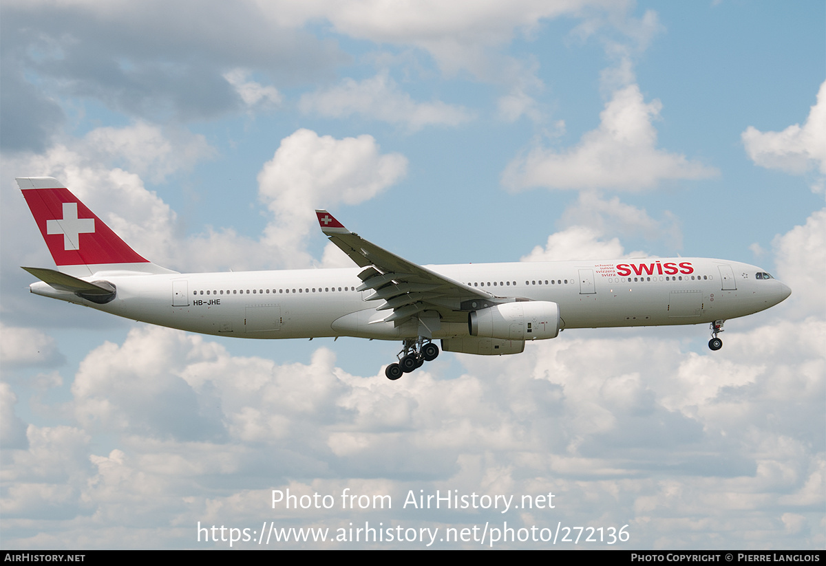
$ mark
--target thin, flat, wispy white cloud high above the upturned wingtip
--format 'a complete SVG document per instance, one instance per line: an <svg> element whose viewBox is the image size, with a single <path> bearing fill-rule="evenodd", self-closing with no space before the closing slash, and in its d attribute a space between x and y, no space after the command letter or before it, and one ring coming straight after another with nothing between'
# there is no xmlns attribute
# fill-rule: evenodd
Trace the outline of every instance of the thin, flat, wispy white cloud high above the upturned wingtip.
<svg viewBox="0 0 826 566"><path fill-rule="evenodd" d="M339 85L325 91L302 95L299 107L305 113L333 118L364 116L404 125L411 131L429 125L459 125L472 118L471 113L462 106L442 101L414 101L387 73L379 73L360 82L345 78Z"/></svg>

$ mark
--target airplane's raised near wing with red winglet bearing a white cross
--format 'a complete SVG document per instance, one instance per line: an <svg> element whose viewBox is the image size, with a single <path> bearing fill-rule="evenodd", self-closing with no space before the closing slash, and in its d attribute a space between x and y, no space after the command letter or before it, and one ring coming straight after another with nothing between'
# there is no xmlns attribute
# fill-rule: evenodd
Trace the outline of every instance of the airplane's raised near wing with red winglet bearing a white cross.
<svg viewBox="0 0 826 566"><path fill-rule="evenodd" d="M373 295L365 300L381 300L376 307L379 311L392 309L387 317L373 322L392 322L398 327L425 310L438 311L442 320L464 322L469 310L513 300L496 297L408 262L350 232L326 210L316 210L316 215L321 231L330 242L341 248L356 265L364 267L358 274L363 283L357 290L373 290ZM426 316L420 317L420 320L425 319Z"/></svg>

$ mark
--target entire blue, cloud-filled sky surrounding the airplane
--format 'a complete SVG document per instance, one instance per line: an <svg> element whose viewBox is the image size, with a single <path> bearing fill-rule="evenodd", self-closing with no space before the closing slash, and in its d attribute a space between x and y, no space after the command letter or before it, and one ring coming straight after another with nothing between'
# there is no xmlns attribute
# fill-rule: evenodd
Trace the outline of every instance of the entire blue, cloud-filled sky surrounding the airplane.
<svg viewBox="0 0 826 566"><path fill-rule="evenodd" d="M823 2L228 6L0 7L4 547L503 519L273 511L287 487L553 491L505 518L824 546ZM219 340L29 295L18 266L52 262L13 179L42 175L179 271L347 266L324 207L423 264L725 257L793 295L715 353L705 327L586 330L391 384L395 342Z"/></svg>

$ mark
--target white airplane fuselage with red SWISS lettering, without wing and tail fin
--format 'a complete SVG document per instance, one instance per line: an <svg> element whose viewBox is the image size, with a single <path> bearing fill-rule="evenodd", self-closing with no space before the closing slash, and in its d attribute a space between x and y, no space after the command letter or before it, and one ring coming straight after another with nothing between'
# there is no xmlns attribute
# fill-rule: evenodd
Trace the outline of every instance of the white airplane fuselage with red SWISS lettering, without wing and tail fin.
<svg viewBox="0 0 826 566"><path fill-rule="evenodd" d="M757 279L763 271L756 266L707 258L427 267L496 297L557 303L560 328L709 323L756 313L790 294L776 279ZM355 290L362 283L359 271L102 271L87 277L116 286L116 298L107 304L94 304L42 282L32 284L31 292L194 333L245 338L416 337L415 323L396 328L375 322L391 311L377 311L382 301L366 300L372 290ZM433 337L468 336L466 317L457 312Z"/></svg>

